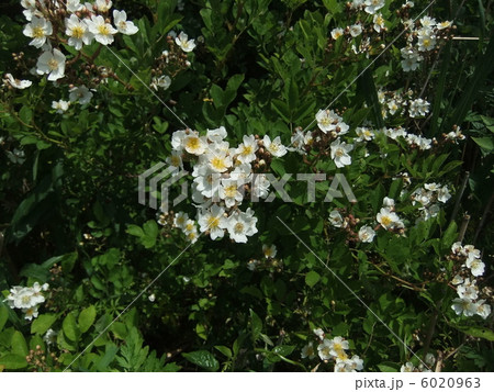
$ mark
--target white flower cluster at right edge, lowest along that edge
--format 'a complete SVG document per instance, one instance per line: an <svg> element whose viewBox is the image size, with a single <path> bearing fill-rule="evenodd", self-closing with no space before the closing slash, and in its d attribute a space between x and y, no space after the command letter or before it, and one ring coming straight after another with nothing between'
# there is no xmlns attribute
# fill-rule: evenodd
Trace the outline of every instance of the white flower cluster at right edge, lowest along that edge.
<svg viewBox="0 0 494 392"><path fill-rule="evenodd" d="M481 293L475 280L485 270L480 250L475 249L473 245L462 246L461 243L454 243L451 246L450 258L461 264L461 270L451 281L458 294L451 309L457 315L471 317L476 314L484 320L487 318L491 314L491 305L485 303L484 299L480 299Z"/></svg>

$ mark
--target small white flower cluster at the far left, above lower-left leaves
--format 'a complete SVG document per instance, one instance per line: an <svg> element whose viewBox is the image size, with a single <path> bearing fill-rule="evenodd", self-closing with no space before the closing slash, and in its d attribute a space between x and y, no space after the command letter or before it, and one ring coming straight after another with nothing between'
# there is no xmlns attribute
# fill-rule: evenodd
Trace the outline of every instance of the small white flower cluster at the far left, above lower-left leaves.
<svg viewBox="0 0 494 392"><path fill-rule="evenodd" d="M14 285L10 289L10 294L7 296L4 302L11 309L20 309L24 313L24 318L32 321L37 317L38 305L45 302L43 291L48 290L48 283L41 285L35 282L33 287L21 287Z"/></svg>

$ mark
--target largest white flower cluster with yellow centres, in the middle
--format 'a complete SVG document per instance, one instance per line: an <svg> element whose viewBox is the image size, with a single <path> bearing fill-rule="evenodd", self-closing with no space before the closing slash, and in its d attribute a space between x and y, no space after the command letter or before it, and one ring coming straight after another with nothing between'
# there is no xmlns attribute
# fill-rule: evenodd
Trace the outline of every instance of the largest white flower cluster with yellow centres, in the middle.
<svg viewBox="0 0 494 392"><path fill-rule="evenodd" d="M223 126L209 130L205 136L191 130L176 131L168 164L178 172L184 161L193 163L192 199L197 203L199 231L209 233L211 239L227 233L236 243L247 243L247 237L257 233L257 217L250 208L242 211L239 205L246 192L254 198L269 195L270 181L255 170L265 168L271 157L282 157L288 149L279 136L271 141L268 135L262 139L245 135L236 147L229 146ZM197 239L194 221L187 217L183 223L175 222L175 226L190 240Z"/></svg>

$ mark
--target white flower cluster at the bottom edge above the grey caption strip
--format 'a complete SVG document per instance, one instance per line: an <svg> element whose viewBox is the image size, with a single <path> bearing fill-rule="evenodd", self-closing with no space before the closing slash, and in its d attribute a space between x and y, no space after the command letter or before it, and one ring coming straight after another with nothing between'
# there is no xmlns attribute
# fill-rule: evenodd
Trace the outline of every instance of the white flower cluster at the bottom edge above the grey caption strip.
<svg viewBox="0 0 494 392"><path fill-rule="evenodd" d="M363 360L359 356L353 355L351 358L348 355L350 345L341 336L335 336L333 339L326 337L323 329L314 329L314 334L318 338L317 355L321 360L327 362L333 360L335 362L335 372L355 372L363 369ZM315 358L314 345L310 341L302 348L302 358Z"/></svg>

